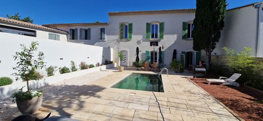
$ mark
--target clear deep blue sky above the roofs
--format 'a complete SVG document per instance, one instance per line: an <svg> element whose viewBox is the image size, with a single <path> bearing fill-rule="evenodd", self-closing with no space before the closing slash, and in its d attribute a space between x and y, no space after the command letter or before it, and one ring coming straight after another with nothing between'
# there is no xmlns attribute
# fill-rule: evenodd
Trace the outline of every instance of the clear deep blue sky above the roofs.
<svg viewBox="0 0 263 121"><path fill-rule="evenodd" d="M261 0L262 1L262 0ZM260 0L227 0L227 9L260 2ZM29 16L34 24L108 22L107 12L191 9L196 0L1 0L0 17L19 13Z"/></svg>

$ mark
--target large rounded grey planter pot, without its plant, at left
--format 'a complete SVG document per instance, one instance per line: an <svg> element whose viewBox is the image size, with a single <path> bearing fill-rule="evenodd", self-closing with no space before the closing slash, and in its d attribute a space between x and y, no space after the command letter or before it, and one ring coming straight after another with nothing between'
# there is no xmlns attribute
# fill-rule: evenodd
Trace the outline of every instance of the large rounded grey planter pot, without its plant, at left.
<svg viewBox="0 0 263 121"><path fill-rule="evenodd" d="M18 110L22 114L32 114L40 108L42 100L43 94L39 97L33 97L31 100L17 102Z"/></svg>

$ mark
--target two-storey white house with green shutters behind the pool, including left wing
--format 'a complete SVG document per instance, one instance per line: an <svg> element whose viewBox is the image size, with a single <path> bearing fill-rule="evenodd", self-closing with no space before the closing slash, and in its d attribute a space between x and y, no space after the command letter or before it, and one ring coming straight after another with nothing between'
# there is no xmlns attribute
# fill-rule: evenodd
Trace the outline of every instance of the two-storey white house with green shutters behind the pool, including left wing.
<svg viewBox="0 0 263 121"><path fill-rule="evenodd" d="M168 67L172 52L177 58L184 53L186 65L196 65L201 53L192 48L195 9L110 12L109 23L46 24L42 26L68 31L68 41L115 48L124 53L123 66L131 66L139 58L159 62L159 47L163 66ZM79 33L79 34L78 34ZM86 36L87 35L87 36ZM155 46L154 46L155 45Z"/></svg>

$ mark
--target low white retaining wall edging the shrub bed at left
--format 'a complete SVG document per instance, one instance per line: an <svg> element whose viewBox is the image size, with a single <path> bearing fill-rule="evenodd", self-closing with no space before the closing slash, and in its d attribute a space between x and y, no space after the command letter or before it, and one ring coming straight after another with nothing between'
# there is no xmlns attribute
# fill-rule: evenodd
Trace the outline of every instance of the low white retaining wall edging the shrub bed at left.
<svg viewBox="0 0 263 121"><path fill-rule="evenodd" d="M66 79L71 79L71 78L83 76L86 74L90 74L93 72L97 72L97 71L101 71L105 69L111 69L114 67L115 67L115 64L110 64L110 65L104 65L104 66L95 67L95 68L86 69L86 70L79 70L76 72L58 74L58 75L51 76L51 77L44 77L43 79L38 80L38 81L31 80L29 81L29 85L30 85L30 88L36 89L36 88L40 88L40 87L43 87L43 86L46 86L52 83L60 82ZM0 98L11 97L14 91L17 91L23 86L26 86L26 82L19 82L19 83L14 83L11 85L0 87ZM26 87L24 87L24 90L26 90Z"/></svg>

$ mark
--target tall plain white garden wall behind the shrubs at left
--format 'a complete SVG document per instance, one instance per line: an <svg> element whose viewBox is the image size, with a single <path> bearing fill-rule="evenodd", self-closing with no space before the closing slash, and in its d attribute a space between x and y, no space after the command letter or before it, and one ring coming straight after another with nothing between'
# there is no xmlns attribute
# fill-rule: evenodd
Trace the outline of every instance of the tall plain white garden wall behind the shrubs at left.
<svg viewBox="0 0 263 121"><path fill-rule="evenodd" d="M44 61L47 67L51 65L70 67L70 61L74 61L78 67L82 61L89 65L95 65L98 62L104 63L105 59L114 60L112 48L0 32L0 77L7 76L15 79L11 76L15 72L12 67L15 67L17 63L14 61L13 55L16 51L21 51L20 44L29 46L31 41L38 41L37 51L42 51L45 54ZM40 73L46 76L45 69Z"/></svg>

